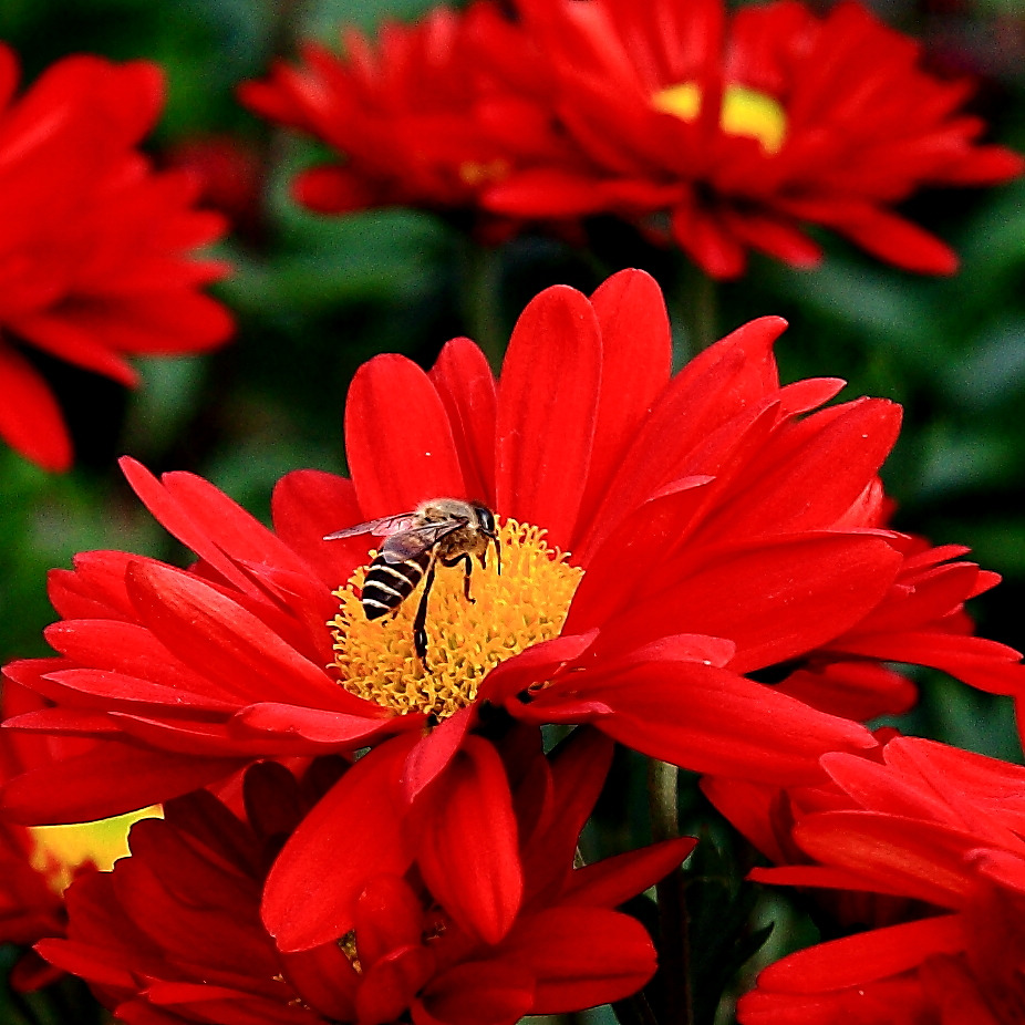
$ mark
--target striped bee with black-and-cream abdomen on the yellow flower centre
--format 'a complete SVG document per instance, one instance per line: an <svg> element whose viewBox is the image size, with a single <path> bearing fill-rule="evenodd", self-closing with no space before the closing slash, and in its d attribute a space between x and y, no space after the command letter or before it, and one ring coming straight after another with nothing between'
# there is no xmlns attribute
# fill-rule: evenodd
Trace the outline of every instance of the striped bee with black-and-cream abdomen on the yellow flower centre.
<svg viewBox="0 0 1025 1025"><path fill-rule="evenodd" d="M473 602L469 578L474 557L484 569L487 566L488 547L494 543L498 572L501 572L501 543L498 540L495 514L487 506L460 501L458 498L432 498L412 512L358 524L329 534L324 540L334 541L360 534L385 538L381 550L370 563L363 583L361 601L367 619L396 612L420 581L426 578L413 620L413 648L426 669L427 633L424 627L427 622L427 597L434 583L437 563L463 563L463 593L467 601Z"/></svg>

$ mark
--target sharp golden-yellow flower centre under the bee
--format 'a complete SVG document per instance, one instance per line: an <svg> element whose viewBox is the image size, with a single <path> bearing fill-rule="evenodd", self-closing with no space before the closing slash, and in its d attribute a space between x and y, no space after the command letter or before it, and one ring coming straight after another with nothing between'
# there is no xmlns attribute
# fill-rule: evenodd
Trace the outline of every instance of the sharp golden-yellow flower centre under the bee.
<svg viewBox="0 0 1025 1025"><path fill-rule="evenodd" d="M413 648L423 583L394 615L370 621L360 603L366 567L356 570L334 592L341 611L329 623L345 690L400 714L445 718L474 701L480 680L499 662L558 636L583 570L569 565L567 552L549 548L545 534L506 520L499 529L501 574L493 548L486 569L474 562L473 602L463 592L463 566L438 565L427 598L426 666Z"/></svg>

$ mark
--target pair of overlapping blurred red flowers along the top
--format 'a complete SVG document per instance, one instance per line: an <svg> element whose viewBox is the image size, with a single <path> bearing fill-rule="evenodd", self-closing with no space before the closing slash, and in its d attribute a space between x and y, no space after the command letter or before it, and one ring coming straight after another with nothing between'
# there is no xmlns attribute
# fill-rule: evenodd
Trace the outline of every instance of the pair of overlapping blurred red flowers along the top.
<svg viewBox="0 0 1025 1025"><path fill-rule="evenodd" d="M967 83L924 71L853 2L819 17L795 0L733 15L723 0L476 0L389 25L376 48L343 42L241 93L342 155L296 183L319 210L410 204L489 232L612 214L717 278L748 250L816 263L804 226L820 225L950 273L950 248L894 206L1023 168L977 143Z"/></svg>

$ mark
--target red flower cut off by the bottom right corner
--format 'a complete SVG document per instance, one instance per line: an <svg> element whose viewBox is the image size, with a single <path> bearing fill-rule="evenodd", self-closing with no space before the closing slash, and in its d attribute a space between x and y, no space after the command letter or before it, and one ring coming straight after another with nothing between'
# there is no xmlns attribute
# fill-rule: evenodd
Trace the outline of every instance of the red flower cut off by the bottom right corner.
<svg viewBox="0 0 1025 1025"><path fill-rule="evenodd" d="M881 759L822 764L831 786L789 801L788 842L807 863L784 857L789 864L753 878L849 892L887 921L770 965L738 1019L1021 1022L1025 769L910 737L890 741Z"/></svg>

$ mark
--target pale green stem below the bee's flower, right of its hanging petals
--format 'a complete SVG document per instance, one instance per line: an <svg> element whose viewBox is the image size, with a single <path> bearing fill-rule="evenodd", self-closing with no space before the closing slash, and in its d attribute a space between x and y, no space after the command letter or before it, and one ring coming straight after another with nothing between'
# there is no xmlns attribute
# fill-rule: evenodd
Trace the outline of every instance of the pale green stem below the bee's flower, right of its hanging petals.
<svg viewBox="0 0 1025 1025"><path fill-rule="evenodd" d="M680 836L675 765L652 758L648 763L648 800L654 841ZM655 892L659 898L659 974L663 993L663 1015L672 1025L691 1025L691 951L687 935L687 907L683 869L673 869Z"/></svg>

